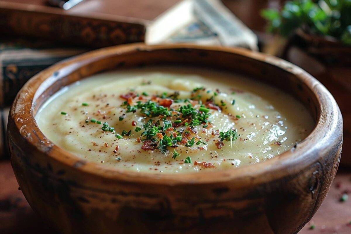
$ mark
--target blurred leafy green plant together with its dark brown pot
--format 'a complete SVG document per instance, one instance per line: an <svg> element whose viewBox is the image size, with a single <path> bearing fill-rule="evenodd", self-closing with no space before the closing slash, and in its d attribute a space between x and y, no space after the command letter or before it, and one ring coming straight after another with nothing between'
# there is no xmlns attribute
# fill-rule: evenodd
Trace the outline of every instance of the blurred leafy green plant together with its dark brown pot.
<svg viewBox="0 0 351 234"><path fill-rule="evenodd" d="M351 0L293 0L265 9L267 29L288 38L279 56L319 79L344 118L342 165L351 166Z"/></svg>

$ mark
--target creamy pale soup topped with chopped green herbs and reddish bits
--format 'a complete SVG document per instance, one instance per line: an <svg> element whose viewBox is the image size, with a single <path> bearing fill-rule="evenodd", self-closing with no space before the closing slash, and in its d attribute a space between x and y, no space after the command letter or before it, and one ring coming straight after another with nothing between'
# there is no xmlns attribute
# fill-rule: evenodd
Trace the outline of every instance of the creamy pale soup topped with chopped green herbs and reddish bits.
<svg viewBox="0 0 351 234"><path fill-rule="evenodd" d="M62 88L35 116L46 137L87 161L135 172L209 172L292 148L314 121L292 96L242 75L151 67Z"/></svg>

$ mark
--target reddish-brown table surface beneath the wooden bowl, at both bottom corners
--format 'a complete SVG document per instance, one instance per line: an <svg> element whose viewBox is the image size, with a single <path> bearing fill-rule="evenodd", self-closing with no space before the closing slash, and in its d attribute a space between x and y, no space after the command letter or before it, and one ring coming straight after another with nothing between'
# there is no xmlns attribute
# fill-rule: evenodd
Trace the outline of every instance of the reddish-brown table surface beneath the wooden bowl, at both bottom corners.
<svg viewBox="0 0 351 234"><path fill-rule="evenodd" d="M322 206L299 234L350 234L351 197L340 201L343 194L351 196L351 171L339 169ZM311 229L311 226L314 229ZM51 233L27 203L18 188L9 161L0 162L0 233Z"/></svg>

